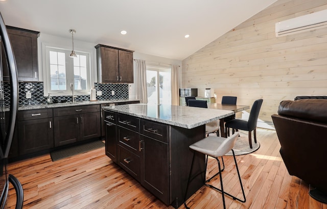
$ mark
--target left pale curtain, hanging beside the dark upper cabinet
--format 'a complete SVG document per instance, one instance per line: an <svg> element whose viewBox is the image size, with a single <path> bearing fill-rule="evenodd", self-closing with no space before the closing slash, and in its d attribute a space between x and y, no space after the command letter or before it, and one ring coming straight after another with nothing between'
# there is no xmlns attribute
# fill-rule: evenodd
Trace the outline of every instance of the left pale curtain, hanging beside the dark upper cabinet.
<svg viewBox="0 0 327 209"><path fill-rule="evenodd" d="M135 60L136 64L136 81L135 81L135 98L140 103L148 103L147 92L147 64L145 60Z"/></svg>

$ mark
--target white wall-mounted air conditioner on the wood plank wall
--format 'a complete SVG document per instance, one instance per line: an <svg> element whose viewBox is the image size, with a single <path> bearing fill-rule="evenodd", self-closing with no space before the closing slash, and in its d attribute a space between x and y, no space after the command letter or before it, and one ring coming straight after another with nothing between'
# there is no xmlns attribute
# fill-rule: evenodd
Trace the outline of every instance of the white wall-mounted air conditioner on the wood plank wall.
<svg viewBox="0 0 327 209"><path fill-rule="evenodd" d="M295 17L276 23L276 37L327 27L327 10Z"/></svg>

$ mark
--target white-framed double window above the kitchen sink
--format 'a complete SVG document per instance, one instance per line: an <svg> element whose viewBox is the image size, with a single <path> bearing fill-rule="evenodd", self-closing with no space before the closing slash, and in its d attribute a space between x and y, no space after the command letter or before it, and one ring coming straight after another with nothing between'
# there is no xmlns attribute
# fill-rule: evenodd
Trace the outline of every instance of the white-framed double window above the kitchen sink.
<svg viewBox="0 0 327 209"><path fill-rule="evenodd" d="M44 95L88 94L90 89L90 54L75 52L77 57L70 58L71 50L45 46Z"/></svg>

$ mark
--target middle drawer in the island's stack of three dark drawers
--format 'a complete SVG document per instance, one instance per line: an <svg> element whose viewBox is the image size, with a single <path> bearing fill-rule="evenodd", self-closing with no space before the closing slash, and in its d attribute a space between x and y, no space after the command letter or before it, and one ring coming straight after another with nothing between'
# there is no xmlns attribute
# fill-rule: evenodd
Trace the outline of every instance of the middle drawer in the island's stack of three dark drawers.
<svg viewBox="0 0 327 209"><path fill-rule="evenodd" d="M139 134L133 132L132 130L119 127L118 126L118 141L119 144L127 148L128 150L134 152L135 154L139 155L140 153L140 141L139 141Z"/></svg>

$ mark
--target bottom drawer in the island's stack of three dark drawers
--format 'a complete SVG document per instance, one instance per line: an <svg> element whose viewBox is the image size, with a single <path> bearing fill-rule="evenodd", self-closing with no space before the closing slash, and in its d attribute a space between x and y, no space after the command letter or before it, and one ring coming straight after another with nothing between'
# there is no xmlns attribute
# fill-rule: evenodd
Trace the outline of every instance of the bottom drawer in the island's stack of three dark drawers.
<svg viewBox="0 0 327 209"><path fill-rule="evenodd" d="M140 181L141 161L139 156L128 151L122 146L118 146L118 164L136 180Z"/></svg>

